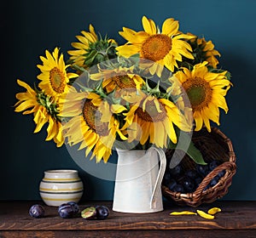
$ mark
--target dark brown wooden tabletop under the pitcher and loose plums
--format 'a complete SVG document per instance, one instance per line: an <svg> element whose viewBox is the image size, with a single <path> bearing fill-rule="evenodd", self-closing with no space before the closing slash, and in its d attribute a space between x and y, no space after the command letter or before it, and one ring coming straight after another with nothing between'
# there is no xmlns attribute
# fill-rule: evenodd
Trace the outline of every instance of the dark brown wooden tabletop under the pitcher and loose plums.
<svg viewBox="0 0 256 238"><path fill-rule="evenodd" d="M44 218L29 216L29 208L36 203L44 206ZM88 201L79 207L99 204L110 209L105 220L61 218L57 207L42 201L0 201L0 237L256 237L256 201L216 201L196 208L168 202L162 212L143 214L113 212L111 201ZM169 215L196 209L207 212L211 207L222 209L212 220Z"/></svg>

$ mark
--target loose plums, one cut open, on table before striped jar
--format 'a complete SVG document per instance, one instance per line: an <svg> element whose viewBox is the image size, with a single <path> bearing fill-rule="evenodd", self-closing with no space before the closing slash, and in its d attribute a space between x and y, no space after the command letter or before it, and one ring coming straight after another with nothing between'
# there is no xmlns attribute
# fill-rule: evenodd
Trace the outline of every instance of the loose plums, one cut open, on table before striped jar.
<svg viewBox="0 0 256 238"><path fill-rule="evenodd" d="M106 219L109 215L109 209L103 205L85 207L83 211L80 212L79 205L70 201L63 203L58 207L58 213L61 218L75 218L81 216L85 219ZM40 204L32 205L29 209L29 215L32 218L43 218L45 214L45 209Z"/></svg>

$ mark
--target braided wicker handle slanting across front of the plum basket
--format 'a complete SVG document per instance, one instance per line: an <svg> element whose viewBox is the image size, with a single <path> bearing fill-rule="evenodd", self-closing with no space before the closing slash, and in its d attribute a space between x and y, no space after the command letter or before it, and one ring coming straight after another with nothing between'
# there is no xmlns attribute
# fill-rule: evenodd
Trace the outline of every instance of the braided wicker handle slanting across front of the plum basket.
<svg viewBox="0 0 256 238"><path fill-rule="evenodd" d="M233 161L225 161L218 167L214 168L211 173L208 173L207 176L201 181L201 184L197 187L195 190L195 194L201 194L204 189L207 187L207 185L211 182L212 178L214 178L216 175L218 175L219 172L226 170L226 173L224 176L228 176L227 173L230 171L230 173L236 172L236 163ZM224 177L223 176L223 177ZM222 178L223 178L222 177Z"/></svg>

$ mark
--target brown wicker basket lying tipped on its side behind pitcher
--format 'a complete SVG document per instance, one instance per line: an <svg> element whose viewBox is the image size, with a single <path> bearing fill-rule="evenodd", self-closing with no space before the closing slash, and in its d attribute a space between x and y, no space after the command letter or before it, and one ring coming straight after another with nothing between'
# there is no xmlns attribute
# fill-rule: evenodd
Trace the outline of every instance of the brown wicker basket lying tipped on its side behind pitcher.
<svg viewBox="0 0 256 238"><path fill-rule="evenodd" d="M162 193L167 200L174 201L177 205L198 207L201 203L211 203L227 194L232 177L236 173L236 155L230 139L217 127L212 127L211 133L208 133L206 128L193 133L192 141L196 148L201 150L201 154L207 163L212 160L218 160L220 165L208 173L192 193L174 192L164 184L162 184ZM173 150L166 151L167 166L173 152ZM180 165L183 170L195 168L196 166L195 162L187 155L183 157ZM223 170L225 171L224 176L218 180L218 184L207 188L212 178Z"/></svg>

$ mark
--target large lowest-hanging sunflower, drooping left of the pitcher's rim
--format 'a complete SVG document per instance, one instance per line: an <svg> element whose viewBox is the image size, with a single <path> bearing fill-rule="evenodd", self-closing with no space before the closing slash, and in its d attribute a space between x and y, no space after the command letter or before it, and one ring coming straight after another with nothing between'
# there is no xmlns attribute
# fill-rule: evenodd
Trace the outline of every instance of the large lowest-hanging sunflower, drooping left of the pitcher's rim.
<svg viewBox="0 0 256 238"><path fill-rule="evenodd" d="M116 135L126 139L119 130L119 122L112 115L124 110L125 107L121 105L108 105L95 93L67 94L61 116L71 116L63 126L68 144L80 144L79 150L86 147L85 156L92 150L90 159L96 157L96 162L102 159L107 162Z"/></svg>

